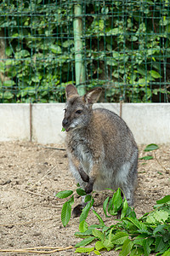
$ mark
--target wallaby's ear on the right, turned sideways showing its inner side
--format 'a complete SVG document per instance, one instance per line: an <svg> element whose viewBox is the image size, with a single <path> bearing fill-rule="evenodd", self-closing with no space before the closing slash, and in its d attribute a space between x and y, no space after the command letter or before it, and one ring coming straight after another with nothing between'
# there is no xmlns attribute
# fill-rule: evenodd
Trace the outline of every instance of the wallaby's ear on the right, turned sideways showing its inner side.
<svg viewBox="0 0 170 256"><path fill-rule="evenodd" d="M83 96L84 102L91 104L91 105L94 104L95 102L97 102L99 100L99 96L101 95L101 92L102 92L101 87L97 87L92 90L88 90L88 92L85 94L85 96Z"/></svg>

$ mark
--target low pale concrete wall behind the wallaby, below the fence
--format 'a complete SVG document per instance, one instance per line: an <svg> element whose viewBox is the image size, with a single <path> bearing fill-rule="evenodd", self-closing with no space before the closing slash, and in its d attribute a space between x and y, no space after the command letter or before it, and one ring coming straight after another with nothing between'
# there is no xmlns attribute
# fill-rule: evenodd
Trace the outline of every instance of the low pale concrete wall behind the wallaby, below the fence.
<svg viewBox="0 0 170 256"><path fill-rule="evenodd" d="M0 141L30 140L37 143L64 143L62 132L64 103L0 104ZM120 114L119 103L97 103ZM123 103L122 119L127 122L138 144L170 143L170 103Z"/></svg>

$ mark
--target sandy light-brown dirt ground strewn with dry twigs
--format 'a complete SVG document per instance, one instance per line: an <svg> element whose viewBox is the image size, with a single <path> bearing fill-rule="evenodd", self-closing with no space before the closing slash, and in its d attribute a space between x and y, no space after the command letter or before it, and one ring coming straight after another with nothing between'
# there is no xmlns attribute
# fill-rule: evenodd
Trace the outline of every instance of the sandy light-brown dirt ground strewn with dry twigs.
<svg viewBox="0 0 170 256"><path fill-rule="evenodd" d="M139 160L139 187L135 193L138 216L149 212L156 200L170 194L170 144L159 145L159 149L148 153L144 147L139 148L139 158L153 155L154 159ZM49 247L48 255L75 255L74 245L81 241L74 236L78 218L71 218L64 228L60 212L65 200L54 196L60 190L76 189L76 182L68 171L66 152L59 148L65 149L65 145L0 143L0 255L40 255L14 252L31 247L42 247L41 251ZM95 195L95 210L104 219L102 201L106 193ZM77 198L77 202L79 200ZM113 219L105 219L106 224L111 225ZM93 212L87 221L98 223ZM53 247L65 250L53 253ZM118 255L118 252L102 255Z"/></svg>

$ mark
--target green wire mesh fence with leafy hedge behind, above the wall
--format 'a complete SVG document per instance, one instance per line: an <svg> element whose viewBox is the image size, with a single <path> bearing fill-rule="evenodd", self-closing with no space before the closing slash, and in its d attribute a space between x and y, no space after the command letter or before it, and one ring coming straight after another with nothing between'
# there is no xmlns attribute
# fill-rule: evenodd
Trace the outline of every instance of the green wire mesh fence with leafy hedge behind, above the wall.
<svg viewBox="0 0 170 256"><path fill-rule="evenodd" d="M0 102L170 101L168 0L2 0Z"/></svg>

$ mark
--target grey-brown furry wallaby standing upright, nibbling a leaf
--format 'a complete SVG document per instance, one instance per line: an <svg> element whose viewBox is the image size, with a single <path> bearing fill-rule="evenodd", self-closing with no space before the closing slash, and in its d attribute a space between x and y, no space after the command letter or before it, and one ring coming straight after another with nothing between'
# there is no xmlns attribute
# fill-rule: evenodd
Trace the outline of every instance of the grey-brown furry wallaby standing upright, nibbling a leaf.
<svg viewBox="0 0 170 256"><path fill-rule="evenodd" d="M62 125L70 169L87 194L121 188L128 205L133 207L138 147L122 118L105 108L92 108L101 92L98 87L79 96L74 85L66 86Z"/></svg>

